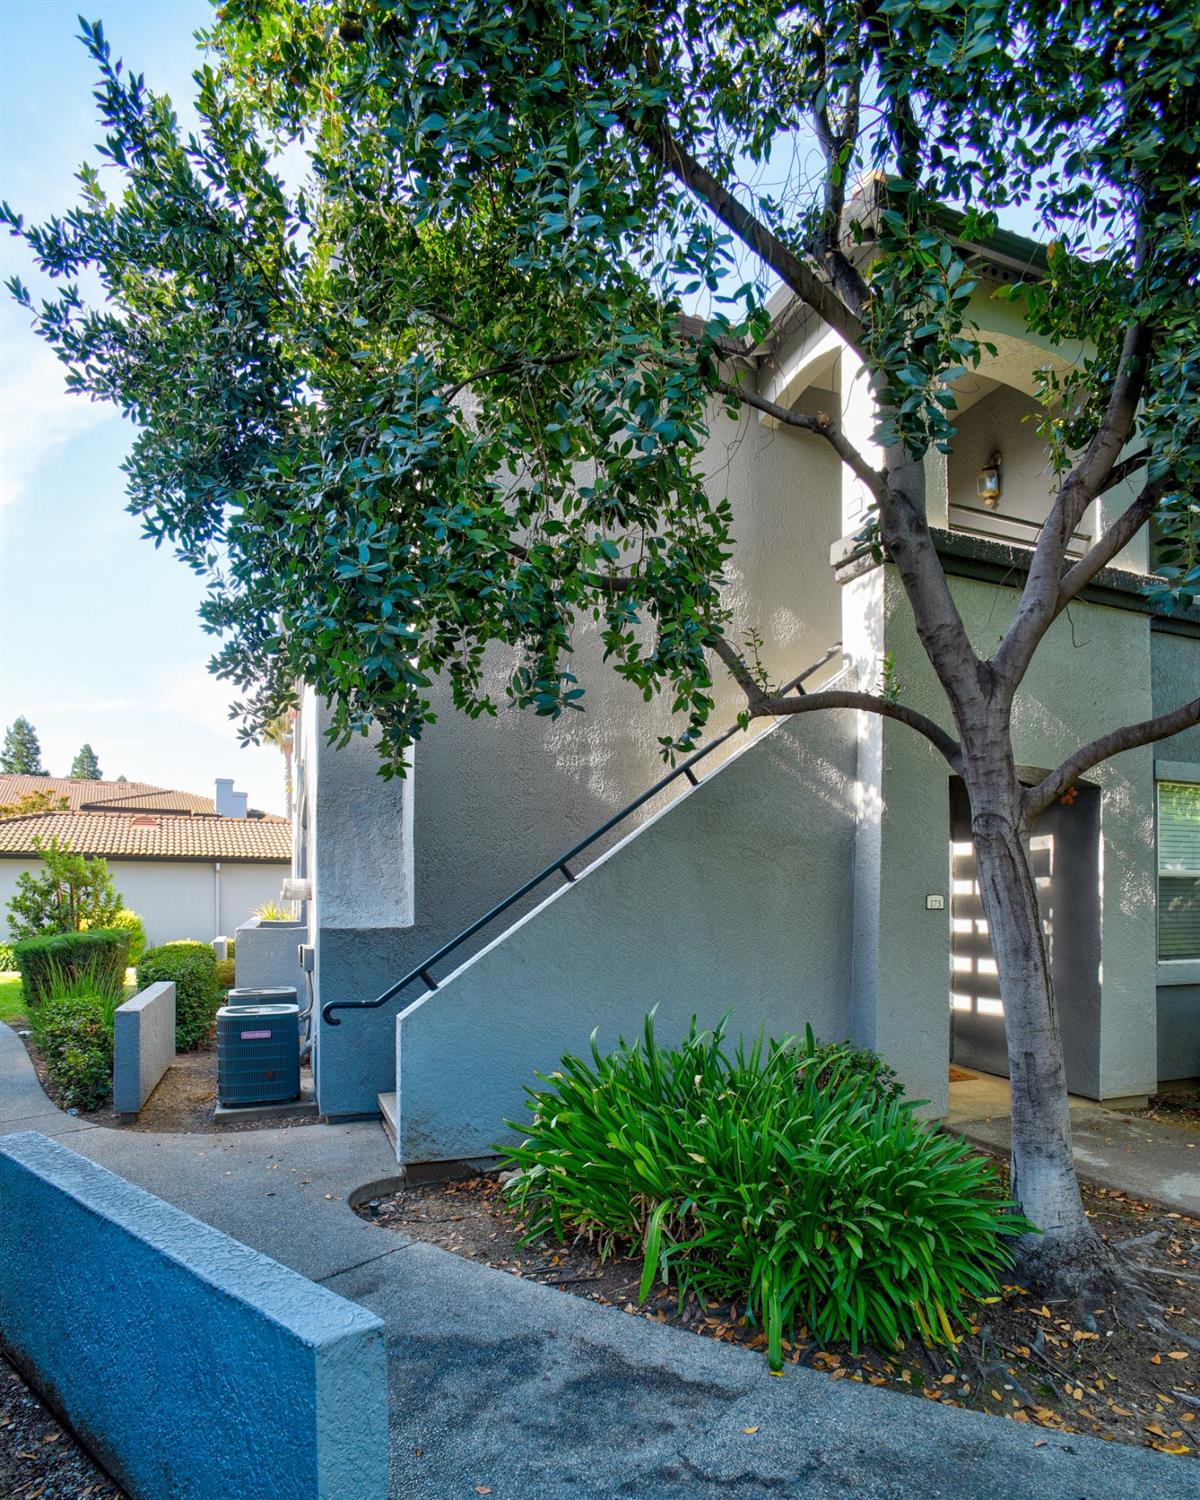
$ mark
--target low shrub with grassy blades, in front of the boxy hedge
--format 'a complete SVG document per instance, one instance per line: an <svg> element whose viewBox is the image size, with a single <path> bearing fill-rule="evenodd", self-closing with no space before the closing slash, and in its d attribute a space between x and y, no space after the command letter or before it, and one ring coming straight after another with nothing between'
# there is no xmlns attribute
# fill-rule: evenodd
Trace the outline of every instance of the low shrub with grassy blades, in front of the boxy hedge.
<svg viewBox="0 0 1200 1500"><path fill-rule="evenodd" d="M50 960L50 993L32 1012L33 1040L45 1058L58 1102L99 1108L112 1090L112 1014L122 986L69 974Z"/></svg>

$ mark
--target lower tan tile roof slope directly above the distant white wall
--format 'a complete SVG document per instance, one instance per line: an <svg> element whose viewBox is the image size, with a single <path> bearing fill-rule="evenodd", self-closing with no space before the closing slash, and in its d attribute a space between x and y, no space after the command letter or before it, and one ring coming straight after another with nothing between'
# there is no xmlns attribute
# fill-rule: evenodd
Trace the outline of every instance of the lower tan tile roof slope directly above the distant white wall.
<svg viewBox="0 0 1200 1500"><path fill-rule="evenodd" d="M130 812L30 813L0 819L0 860L36 856L34 837L114 860L291 860L284 818L190 818Z"/></svg>

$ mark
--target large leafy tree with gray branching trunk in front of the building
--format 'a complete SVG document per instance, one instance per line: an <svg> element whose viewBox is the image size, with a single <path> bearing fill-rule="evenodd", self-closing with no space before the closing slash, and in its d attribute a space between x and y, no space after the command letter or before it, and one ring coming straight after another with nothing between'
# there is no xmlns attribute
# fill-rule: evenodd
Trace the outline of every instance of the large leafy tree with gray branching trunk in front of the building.
<svg viewBox="0 0 1200 1500"><path fill-rule="evenodd" d="M308 681L334 738L375 722L387 771L444 676L468 714L579 706L580 618L615 670L669 690L693 746L716 662L762 714L854 708L924 735L970 798L1012 1074L1026 1275L1084 1298L1113 1264L1080 1202L1030 822L1200 699L1113 724L1035 786L1010 712L1056 618L1142 528L1158 609L1200 582L1194 10L1185 0L228 0L201 129L120 74L99 27L102 154L68 219L26 226L66 286L34 308L72 388L138 424L130 508L210 579L219 675L266 724ZM273 152L303 142L290 190ZM886 182L878 213L850 196ZM1071 352L1042 380L1056 492L998 648L972 646L930 536L921 464L954 438L986 340L969 244L1018 204L1047 244L1014 288ZM76 274L99 278L90 308ZM862 362L879 453L741 376L782 284ZM681 318L698 294L718 310ZM730 639L729 508L700 480L706 411L742 404L828 446L870 498L945 693L778 694ZM579 483L591 466L590 483ZM1134 496L1086 555L1092 501ZM798 522L802 524L802 522ZM1090 1305L1090 1304L1089 1304Z"/></svg>

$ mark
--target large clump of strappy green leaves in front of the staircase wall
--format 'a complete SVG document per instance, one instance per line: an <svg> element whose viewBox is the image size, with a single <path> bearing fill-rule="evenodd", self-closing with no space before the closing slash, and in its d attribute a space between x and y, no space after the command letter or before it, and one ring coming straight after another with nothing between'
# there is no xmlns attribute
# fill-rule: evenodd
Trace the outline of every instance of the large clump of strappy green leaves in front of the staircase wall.
<svg viewBox="0 0 1200 1500"><path fill-rule="evenodd" d="M642 1251L656 1278L738 1299L780 1368L784 1329L822 1344L954 1340L963 1305L998 1292L1006 1238L1029 1226L964 1142L884 1101L861 1076L814 1072L794 1041L723 1050L726 1022L645 1040L528 1089L530 1138L508 1196L526 1238L585 1234ZM510 1122L512 1124L512 1122ZM520 1126L514 1126L520 1128Z"/></svg>

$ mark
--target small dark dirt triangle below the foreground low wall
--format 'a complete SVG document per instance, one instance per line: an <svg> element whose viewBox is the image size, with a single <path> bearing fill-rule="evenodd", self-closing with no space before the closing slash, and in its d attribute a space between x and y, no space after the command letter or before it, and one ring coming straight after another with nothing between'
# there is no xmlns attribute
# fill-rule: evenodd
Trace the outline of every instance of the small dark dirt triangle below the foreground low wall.
<svg viewBox="0 0 1200 1500"><path fill-rule="evenodd" d="M0 1359L0 1496L6 1500L124 1497L4 1359Z"/></svg>

